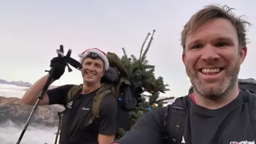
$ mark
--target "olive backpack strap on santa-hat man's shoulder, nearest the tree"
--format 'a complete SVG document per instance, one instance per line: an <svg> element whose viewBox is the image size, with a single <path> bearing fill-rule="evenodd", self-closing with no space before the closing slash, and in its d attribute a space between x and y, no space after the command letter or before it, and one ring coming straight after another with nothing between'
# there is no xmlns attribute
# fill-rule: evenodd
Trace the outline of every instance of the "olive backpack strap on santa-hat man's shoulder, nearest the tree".
<svg viewBox="0 0 256 144"><path fill-rule="evenodd" d="M111 93L110 87L101 86L98 92L96 93L96 96L94 97L92 101L92 116L89 119L89 121L85 122L85 126L88 126L92 124L95 118L100 117L100 104L102 99L107 95L108 93Z"/></svg>

